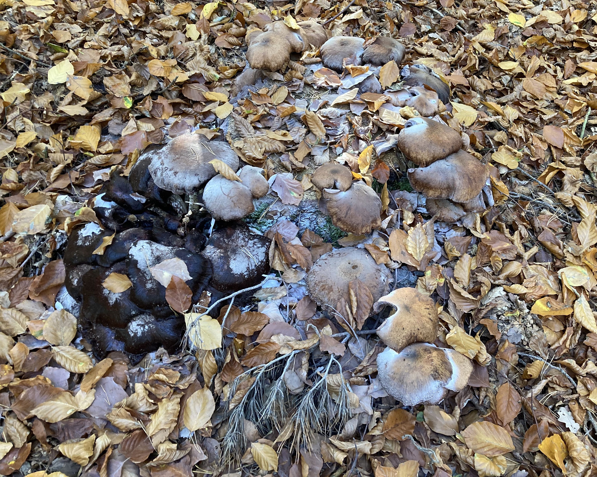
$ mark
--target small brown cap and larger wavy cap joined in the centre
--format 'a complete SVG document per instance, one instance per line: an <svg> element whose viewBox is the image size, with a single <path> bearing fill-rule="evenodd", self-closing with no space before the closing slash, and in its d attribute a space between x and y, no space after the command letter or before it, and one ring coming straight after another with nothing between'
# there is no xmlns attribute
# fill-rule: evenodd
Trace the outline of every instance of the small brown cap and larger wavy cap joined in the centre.
<svg viewBox="0 0 597 477"><path fill-rule="evenodd" d="M352 181L346 166L328 162L316 169L311 182L322 191L322 206L340 230L361 235L381 227L381 199L364 182Z"/></svg>

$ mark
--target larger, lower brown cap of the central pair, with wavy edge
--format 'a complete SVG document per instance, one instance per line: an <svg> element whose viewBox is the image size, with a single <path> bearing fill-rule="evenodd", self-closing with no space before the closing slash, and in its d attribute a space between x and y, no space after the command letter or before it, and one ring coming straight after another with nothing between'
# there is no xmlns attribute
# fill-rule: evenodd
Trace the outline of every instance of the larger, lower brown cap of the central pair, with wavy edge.
<svg viewBox="0 0 597 477"><path fill-rule="evenodd" d="M353 182L346 191L324 189L323 197L332 224L355 235L381 227L381 199L364 182Z"/></svg>

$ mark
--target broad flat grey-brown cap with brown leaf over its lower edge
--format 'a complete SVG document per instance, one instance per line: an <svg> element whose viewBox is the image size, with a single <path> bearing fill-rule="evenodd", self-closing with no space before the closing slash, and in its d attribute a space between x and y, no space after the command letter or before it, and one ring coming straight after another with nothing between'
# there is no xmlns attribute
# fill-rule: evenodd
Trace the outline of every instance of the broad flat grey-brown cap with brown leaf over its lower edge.
<svg viewBox="0 0 597 477"><path fill-rule="evenodd" d="M374 301L387 293L392 275L383 264L376 264L364 249L346 247L322 255L307 273L309 296L319 306L336 307L338 300L348 300L348 284L358 278L373 295Z"/></svg>

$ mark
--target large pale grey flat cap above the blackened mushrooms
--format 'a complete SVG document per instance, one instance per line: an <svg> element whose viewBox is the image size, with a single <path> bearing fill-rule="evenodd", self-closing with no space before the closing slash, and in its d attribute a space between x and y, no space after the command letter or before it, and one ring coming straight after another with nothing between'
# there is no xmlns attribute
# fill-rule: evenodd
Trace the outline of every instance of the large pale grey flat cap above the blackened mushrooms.
<svg viewBox="0 0 597 477"><path fill-rule="evenodd" d="M220 159L234 171L238 169L238 156L228 143L210 141L201 134L183 134L159 150L141 155L149 156L148 169L153 182L162 189L176 194L192 193L216 175L210 160Z"/></svg>

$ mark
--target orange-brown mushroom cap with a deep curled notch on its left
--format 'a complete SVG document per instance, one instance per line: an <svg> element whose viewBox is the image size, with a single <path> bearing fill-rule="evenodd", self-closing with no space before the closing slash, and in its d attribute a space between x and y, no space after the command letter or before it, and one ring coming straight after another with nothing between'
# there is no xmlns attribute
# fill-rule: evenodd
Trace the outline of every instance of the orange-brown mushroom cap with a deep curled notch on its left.
<svg viewBox="0 0 597 477"><path fill-rule="evenodd" d="M373 306L378 312L391 305L396 311L377 329L377 336L394 351L417 342L433 342L438 336L438 312L429 296L404 287L382 296Z"/></svg>

